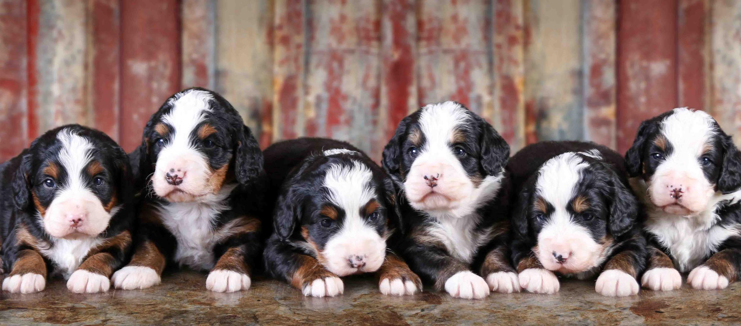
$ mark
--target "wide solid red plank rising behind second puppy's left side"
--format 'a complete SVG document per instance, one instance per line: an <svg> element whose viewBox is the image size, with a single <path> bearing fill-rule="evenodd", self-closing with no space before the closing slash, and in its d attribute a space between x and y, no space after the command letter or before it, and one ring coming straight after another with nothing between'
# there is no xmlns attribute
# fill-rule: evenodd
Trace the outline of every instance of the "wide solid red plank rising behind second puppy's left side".
<svg viewBox="0 0 741 326"><path fill-rule="evenodd" d="M121 139L142 142L149 117L180 90L178 1L121 1ZM156 46L155 46L156 44Z"/></svg>

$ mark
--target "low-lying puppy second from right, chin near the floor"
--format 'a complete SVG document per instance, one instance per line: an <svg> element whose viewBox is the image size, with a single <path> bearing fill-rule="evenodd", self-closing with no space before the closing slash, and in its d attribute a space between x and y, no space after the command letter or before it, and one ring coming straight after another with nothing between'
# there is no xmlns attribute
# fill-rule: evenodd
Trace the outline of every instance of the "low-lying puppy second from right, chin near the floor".
<svg viewBox="0 0 741 326"><path fill-rule="evenodd" d="M620 154L587 142L540 142L512 156L512 260L519 284L559 290L556 274L588 279L605 296L637 294L645 267L639 202Z"/></svg>

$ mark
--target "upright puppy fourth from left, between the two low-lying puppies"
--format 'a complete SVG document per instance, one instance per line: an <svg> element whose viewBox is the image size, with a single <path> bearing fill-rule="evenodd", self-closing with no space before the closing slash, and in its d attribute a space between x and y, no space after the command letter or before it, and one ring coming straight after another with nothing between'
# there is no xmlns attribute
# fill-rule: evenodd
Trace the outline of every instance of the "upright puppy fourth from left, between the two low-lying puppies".
<svg viewBox="0 0 741 326"><path fill-rule="evenodd" d="M494 127L456 102L407 116L386 145L406 224L394 246L436 290L466 299L519 291L508 259L508 156Z"/></svg>

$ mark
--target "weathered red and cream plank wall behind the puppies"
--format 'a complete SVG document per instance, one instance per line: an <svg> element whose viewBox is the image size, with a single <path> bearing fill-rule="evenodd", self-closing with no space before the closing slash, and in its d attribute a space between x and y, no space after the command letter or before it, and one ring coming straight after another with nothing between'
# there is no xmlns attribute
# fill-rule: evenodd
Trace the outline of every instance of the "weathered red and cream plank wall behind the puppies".
<svg viewBox="0 0 741 326"><path fill-rule="evenodd" d="M453 99L513 150L624 151L678 106L741 135L737 0L0 0L0 159L77 122L132 150L184 87L222 93L267 146L353 142Z"/></svg>

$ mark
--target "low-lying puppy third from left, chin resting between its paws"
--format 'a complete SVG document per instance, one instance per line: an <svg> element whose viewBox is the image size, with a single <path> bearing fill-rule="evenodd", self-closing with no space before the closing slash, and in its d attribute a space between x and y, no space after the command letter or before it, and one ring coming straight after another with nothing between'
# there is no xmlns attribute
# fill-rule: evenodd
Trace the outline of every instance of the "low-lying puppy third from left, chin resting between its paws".
<svg viewBox="0 0 741 326"><path fill-rule="evenodd" d="M305 296L336 296L342 276L379 272L383 294L414 294L422 282L386 239L399 225L393 182L345 142L305 138L265 150L275 232L265 267ZM269 202L273 202L269 200Z"/></svg>

